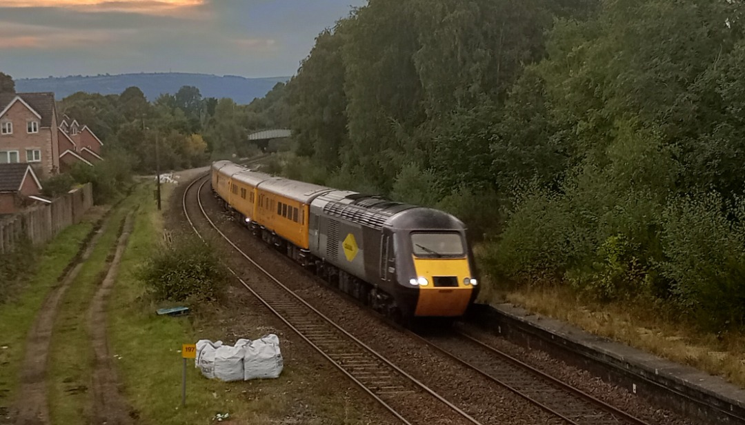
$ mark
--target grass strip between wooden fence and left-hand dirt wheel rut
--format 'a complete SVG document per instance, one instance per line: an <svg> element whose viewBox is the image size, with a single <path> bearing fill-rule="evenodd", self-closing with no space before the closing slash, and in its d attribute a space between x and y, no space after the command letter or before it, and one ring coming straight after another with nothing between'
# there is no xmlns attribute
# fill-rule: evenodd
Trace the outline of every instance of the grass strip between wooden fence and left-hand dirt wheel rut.
<svg viewBox="0 0 745 425"><path fill-rule="evenodd" d="M0 406L10 406L19 386L25 341L37 312L80 244L92 230L97 217L89 215L79 224L67 227L44 249L28 283L12 303L0 305Z"/></svg>

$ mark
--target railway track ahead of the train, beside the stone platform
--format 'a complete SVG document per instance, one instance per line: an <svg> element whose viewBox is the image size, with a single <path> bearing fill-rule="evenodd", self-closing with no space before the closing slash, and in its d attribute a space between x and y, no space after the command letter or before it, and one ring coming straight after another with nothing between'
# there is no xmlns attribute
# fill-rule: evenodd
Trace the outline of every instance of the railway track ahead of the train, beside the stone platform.
<svg viewBox="0 0 745 425"><path fill-rule="evenodd" d="M438 336L410 335L567 424L648 425L460 330Z"/></svg>

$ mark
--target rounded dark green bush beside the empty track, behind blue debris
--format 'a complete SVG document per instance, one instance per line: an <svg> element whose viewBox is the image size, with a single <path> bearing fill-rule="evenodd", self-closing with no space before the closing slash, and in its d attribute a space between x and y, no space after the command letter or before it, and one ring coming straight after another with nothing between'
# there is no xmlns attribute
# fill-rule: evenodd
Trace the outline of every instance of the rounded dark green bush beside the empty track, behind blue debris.
<svg viewBox="0 0 745 425"><path fill-rule="evenodd" d="M142 267L140 278L156 300L216 300L228 278L212 245L197 236L174 239Z"/></svg>

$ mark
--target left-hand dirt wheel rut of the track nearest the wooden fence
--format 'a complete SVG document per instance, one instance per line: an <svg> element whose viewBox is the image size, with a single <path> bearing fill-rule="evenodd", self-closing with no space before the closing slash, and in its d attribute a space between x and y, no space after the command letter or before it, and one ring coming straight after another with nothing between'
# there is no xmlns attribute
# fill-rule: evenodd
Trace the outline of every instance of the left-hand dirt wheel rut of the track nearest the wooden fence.
<svg viewBox="0 0 745 425"><path fill-rule="evenodd" d="M101 220L97 224L93 236L81 247L82 253L76 256L73 262L71 262L74 265L67 269L66 274L63 274L63 277L60 279L60 285L47 295L42 308L39 309L39 315L37 315L37 320L34 322L34 327L31 328L31 332L28 334L25 357L21 369L21 388L19 389L19 396L16 399L15 406L12 409L13 415L11 417L15 418L15 424L49 424L48 383L46 378L49 344L54 328L54 319L57 317L60 300L63 299L70 284L75 281L77 274L80 273L80 268L83 268L83 264L98 243L98 239L101 238L104 230L106 230L107 217Z"/></svg>

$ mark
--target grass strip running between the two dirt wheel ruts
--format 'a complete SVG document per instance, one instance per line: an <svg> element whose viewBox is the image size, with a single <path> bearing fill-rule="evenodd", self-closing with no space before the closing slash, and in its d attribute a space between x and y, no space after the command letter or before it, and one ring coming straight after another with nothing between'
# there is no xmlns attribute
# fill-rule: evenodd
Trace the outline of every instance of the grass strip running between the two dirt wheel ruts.
<svg viewBox="0 0 745 425"><path fill-rule="evenodd" d="M125 200L107 218L104 233L67 289L57 312L48 373L52 424L75 424L90 417L93 353L87 312L107 272L107 256L116 246L121 220L130 207L129 200Z"/></svg>

